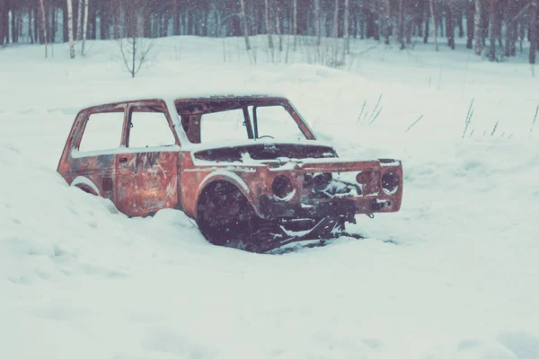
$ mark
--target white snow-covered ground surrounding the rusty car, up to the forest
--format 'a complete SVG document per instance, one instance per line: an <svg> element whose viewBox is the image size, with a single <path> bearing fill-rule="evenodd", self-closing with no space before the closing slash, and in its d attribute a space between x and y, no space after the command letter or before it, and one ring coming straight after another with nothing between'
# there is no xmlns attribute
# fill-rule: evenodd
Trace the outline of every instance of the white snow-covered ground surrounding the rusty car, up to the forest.
<svg viewBox="0 0 539 359"><path fill-rule="evenodd" d="M525 57L380 45L342 72L301 64L305 48L268 64L256 41L251 66L242 39L162 39L134 80L111 42L75 60L0 49L0 357L539 358ZM256 255L209 245L181 212L115 214L56 174L85 104L234 91L286 93L341 154L402 159L401 212L358 217L365 241Z"/></svg>

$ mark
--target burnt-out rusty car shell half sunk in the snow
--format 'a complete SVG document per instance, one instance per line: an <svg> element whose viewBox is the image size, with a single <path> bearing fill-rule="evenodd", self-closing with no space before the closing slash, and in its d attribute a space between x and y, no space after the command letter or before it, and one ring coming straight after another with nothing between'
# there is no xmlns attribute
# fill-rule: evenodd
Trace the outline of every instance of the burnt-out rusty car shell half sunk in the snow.
<svg viewBox="0 0 539 359"><path fill-rule="evenodd" d="M82 109L57 167L128 216L176 208L216 245L264 252L397 212L402 164L344 160L286 98L121 101Z"/></svg>

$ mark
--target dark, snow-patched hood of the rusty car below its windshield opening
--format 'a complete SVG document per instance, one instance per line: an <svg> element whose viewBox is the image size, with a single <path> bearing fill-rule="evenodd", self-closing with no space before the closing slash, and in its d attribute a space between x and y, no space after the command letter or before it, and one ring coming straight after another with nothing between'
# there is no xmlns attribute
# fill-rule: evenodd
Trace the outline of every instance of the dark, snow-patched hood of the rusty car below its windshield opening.
<svg viewBox="0 0 539 359"><path fill-rule="evenodd" d="M194 158L211 162L265 162L279 159L335 158L333 147L324 144L270 143L217 146L195 151Z"/></svg>

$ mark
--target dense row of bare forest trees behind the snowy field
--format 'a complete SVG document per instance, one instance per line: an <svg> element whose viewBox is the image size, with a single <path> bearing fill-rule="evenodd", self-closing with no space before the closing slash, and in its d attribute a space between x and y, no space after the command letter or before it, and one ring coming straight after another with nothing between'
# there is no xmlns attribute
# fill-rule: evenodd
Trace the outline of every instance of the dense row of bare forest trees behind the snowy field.
<svg viewBox="0 0 539 359"><path fill-rule="evenodd" d="M314 35L343 38L393 37L401 48L412 36L435 48L446 37L455 48L455 36L466 37L466 48L490 60L516 56L527 35L529 61L535 63L539 0L0 0L0 45L28 41L49 44L60 40L163 37L169 35L250 36L267 34L274 47L278 35ZM71 15L69 15L71 13ZM464 26L465 22L465 26ZM456 32L458 29L458 32ZM73 39L71 39L73 38ZM487 40L489 43L487 44ZM294 39L296 48L297 39Z"/></svg>

